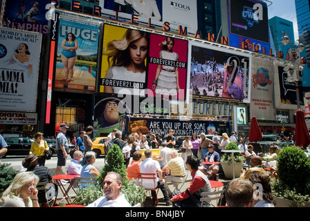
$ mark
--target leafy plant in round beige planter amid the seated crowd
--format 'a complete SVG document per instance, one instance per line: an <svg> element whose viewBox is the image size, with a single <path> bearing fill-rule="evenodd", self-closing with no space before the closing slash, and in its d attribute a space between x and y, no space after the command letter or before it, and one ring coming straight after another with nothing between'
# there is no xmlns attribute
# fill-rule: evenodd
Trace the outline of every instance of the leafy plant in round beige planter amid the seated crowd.
<svg viewBox="0 0 310 221"><path fill-rule="evenodd" d="M235 144L235 142L230 142L225 146L225 150L239 151L239 148L237 144ZM246 157L244 157L244 155L241 155L241 153L234 153L234 159L232 157L232 153L224 153L224 155L221 156L221 167L223 168L225 177L233 178L233 168L232 168L233 161L234 161L235 177L240 177L242 166L244 165L245 160Z"/></svg>

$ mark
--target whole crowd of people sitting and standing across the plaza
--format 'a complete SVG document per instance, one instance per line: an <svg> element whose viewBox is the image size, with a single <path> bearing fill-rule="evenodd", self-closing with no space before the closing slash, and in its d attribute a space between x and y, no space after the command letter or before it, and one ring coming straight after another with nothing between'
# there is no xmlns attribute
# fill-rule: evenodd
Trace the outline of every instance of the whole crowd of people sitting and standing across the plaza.
<svg viewBox="0 0 310 221"><path fill-rule="evenodd" d="M67 128L66 124L61 124L60 133L56 137L56 175L60 174L62 166L66 166L66 157L68 156ZM88 126L75 139L77 148L68 166L68 174L80 175L80 177L97 177L100 174L98 169L93 166L96 155L92 151L91 133L93 133L93 127ZM238 141L235 133L232 133L230 137L227 133L222 133L220 137L215 131L212 139L209 139L205 133L186 136L181 144L181 153L179 153L174 148L176 138L172 129L165 136L156 136L148 132L142 136L141 140L138 140L137 134L131 134L127 140L122 140L122 132L114 129L108 135L107 142L118 144L122 149L125 158L124 163L127 167L126 178L135 180L137 185L151 190L154 204L158 204L155 189L161 189L165 204L167 206L172 204L175 207L197 206L196 201L200 200L201 193L211 191L210 180L217 180L219 173L217 164L201 163L205 160L220 162L221 150L225 149L225 146L230 142L238 143L239 149L244 151L245 164L248 165L248 168L243 169L240 177L228 182L228 185L225 186L224 202L229 207L275 206L269 175L265 168L269 167L276 170L275 162L280 152L277 142L270 146L269 153L259 154L253 151L252 145L246 144L246 140L240 139ZM130 148L124 151L125 146L130 146ZM3 145L0 151L5 148L6 146ZM157 157L153 157L152 148L159 149ZM140 150L144 150L144 152ZM22 162L19 173L8 189L3 192L0 198L0 206L39 207L48 203L44 192L36 189L38 182L54 184L51 171L44 166L46 151L48 151L48 146L43 140L43 133L38 132L35 134L35 142L30 148L29 155ZM143 154L145 160L142 160ZM187 171L192 176L192 182L186 191L181 192L179 184L184 183L187 179ZM141 173L154 174L155 183L142 182ZM108 173L102 182L105 195L88 206L131 206L120 192L122 179L124 177L118 173ZM66 184L66 181L62 180L62 182ZM168 183L172 183L174 191L170 189ZM57 195L57 185L55 185L55 189ZM51 203L53 204L53 202ZM210 206L210 202L208 200L203 202L203 206Z"/></svg>

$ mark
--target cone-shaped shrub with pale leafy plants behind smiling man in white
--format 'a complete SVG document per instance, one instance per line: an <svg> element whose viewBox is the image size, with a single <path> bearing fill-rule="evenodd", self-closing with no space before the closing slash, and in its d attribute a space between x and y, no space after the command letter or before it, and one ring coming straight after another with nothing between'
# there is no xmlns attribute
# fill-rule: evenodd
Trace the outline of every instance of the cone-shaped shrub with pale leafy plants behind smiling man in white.
<svg viewBox="0 0 310 221"><path fill-rule="evenodd" d="M102 195L104 195L104 191L102 189L101 183L103 182L107 173L111 171L119 173L122 176L123 180L121 192L125 195L125 198L131 204L131 206L136 204L143 205L147 191L140 186L137 186L134 180L129 181L126 177L127 173L126 166L124 164L124 154L117 144L113 144L109 149L109 153L107 154L107 163L100 171L98 177L96 177L98 180L98 185L90 185L84 189L78 189L76 196L77 204L83 204L86 206L102 197Z"/></svg>

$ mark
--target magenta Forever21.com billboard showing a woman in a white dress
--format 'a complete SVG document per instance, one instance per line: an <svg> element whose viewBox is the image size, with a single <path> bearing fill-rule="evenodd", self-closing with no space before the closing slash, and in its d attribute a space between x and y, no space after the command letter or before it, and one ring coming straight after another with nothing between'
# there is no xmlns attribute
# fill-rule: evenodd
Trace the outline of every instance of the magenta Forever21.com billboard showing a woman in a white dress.
<svg viewBox="0 0 310 221"><path fill-rule="evenodd" d="M148 95L185 99L187 61L188 41L151 34L147 74L147 88L150 89Z"/></svg>

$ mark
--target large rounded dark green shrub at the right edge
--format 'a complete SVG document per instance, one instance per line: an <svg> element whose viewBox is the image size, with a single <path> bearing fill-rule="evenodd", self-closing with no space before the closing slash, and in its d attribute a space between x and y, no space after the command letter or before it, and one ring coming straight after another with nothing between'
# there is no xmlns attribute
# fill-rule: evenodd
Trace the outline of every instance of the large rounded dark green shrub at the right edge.
<svg viewBox="0 0 310 221"><path fill-rule="evenodd" d="M271 179L276 206L310 206L310 159L300 148L286 146L277 155L277 177Z"/></svg>

